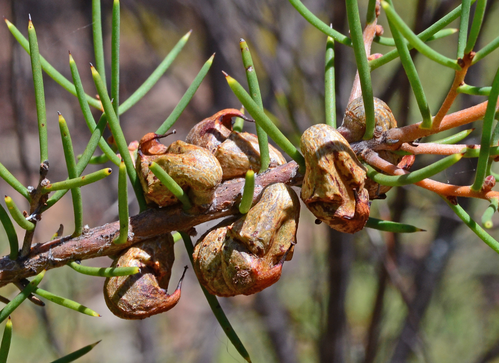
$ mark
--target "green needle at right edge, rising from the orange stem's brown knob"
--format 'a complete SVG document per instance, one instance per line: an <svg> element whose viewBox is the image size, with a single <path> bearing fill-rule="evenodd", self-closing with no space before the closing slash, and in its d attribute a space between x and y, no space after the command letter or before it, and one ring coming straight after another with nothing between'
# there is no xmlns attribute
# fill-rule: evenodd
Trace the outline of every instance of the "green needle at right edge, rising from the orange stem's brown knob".
<svg viewBox="0 0 499 363"><path fill-rule="evenodd" d="M482 140L480 141L480 154L478 156L477 174L475 182L471 186L472 190L482 189L485 177L487 177L487 164L489 162L492 126L494 125L494 116L496 115L496 104L499 97L499 68L492 82L492 89L489 95L489 103L485 110L484 122L482 126Z"/></svg>

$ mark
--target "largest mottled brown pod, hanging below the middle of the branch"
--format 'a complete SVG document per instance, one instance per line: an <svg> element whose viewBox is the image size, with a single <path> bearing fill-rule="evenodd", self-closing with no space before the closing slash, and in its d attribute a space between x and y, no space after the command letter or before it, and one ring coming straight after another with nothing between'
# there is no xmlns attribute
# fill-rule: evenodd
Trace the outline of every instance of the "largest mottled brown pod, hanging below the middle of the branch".
<svg viewBox="0 0 499 363"><path fill-rule="evenodd" d="M214 295L251 295L280 278L292 258L300 203L291 187L267 186L260 200L234 223L206 232L194 249L194 271Z"/></svg>

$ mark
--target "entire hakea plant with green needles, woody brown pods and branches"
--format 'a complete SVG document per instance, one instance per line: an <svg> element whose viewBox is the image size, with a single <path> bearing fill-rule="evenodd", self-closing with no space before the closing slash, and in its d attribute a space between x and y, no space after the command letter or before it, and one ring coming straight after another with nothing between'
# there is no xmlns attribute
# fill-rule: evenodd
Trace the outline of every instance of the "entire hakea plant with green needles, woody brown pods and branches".
<svg viewBox="0 0 499 363"><path fill-rule="evenodd" d="M6 306L0 321L8 321L3 335L0 358L6 360L12 323L9 314L29 299L44 303L38 295L67 308L99 316L76 302L37 287L46 269L68 265L77 272L107 277L104 296L110 310L126 319L142 319L173 308L180 299L177 290L168 295L166 289L174 261L173 243L183 239L203 292L219 323L241 356L250 356L231 327L215 295L251 294L276 282L285 260L292 257L296 243L299 203L291 185L301 186L301 198L317 217L339 231L353 233L364 227L391 232L417 232L421 229L369 217L373 199L382 198L393 186L416 184L442 196L451 209L491 248L499 253L499 242L473 221L458 204L457 197L486 199L490 206L484 213L484 227L492 227L492 215L498 209L499 192L492 190L495 174L491 165L499 156L499 124L497 104L499 72L492 86L477 87L465 83L472 65L499 47L499 37L475 52L486 0L477 0L475 15L468 33L472 0L463 0L449 14L420 34L415 34L397 14L391 0L369 0L367 21L362 30L356 0L346 0L350 37L320 21L299 0L289 0L298 12L327 37L325 50L325 122L314 125L301 136L301 153L270 121L263 110L256 71L247 43L241 39L243 64L249 93L234 78L225 74L229 86L256 123L256 136L243 133L243 122L251 121L243 111L223 110L199 123L188 136L188 143L175 141L166 147L159 139L174 125L203 81L213 56L201 68L185 95L154 133L128 144L119 124L119 116L137 103L168 69L186 44L190 32L161 62L151 76L125 102L119 100L119 0L114 0L111 37L111 89L106 89L104 52L101 30L100 1L92 1L95 67L91 73L98 99L83 90L76 63L69 55L72 82L55 70L38 51L36 33L29 19L28 39L5 19L9 30L31 58L33 84L40 139L40 179L36 187L25 187L1 164L0 177L23 195L29 211L21 211L9 196L7 211L0 205L0 220L10 243L10 254L0 260L0 285L15 284L21 292L11 301L0 297ZM393 38L382 36L377 24L381 9L386 12ZM457 55L448 58L427 42L455 32L446 29L460 17ZM341 127L336 128L334 80L334 42L353 48L357 63L349 105ZM386 54L370 54L372 42L395 47ZM455 70L455 79L442 106L432 116L425 92L409 50ZM388 106L373 96L370 72L400 57L409 78L422 121L398 128ZM51 182L47 160L47 117L42 70L64 89L78 97L83 117L92 136L76 162L69 129L59 114L59 127L68 169L66 181ZM488 96L487 102L447 114L459 93ZM102 111L95 123L90 106ZM234 125L232 117L238 117ZM420 143L423 137L483 119L480 145L457 145L469 131L436 141ZM109 125L114 143L103 138ZM147 130L150 131L150 130ZM270 137L293 161L285 163L280 152L268 144ZM93 156L97 146L100 156ZM119 154L116 154L118 152ZM418 171L408 170L415 155L445 155L446 158ZM462 158L478 158L473 185L458 186L430 178ZM106 168L82 176L88 164L110 161L119 169L119 221L88 229L83 226L80 187L105 178ZM257 173L255 174L255 171ZM207 175L207 173L209 175ZM129 216L127 177L131 181L140 213ZM242 177L245 177L244 179ZM62 236L62 226L51 241L31 245L42 213L71 190L75 230ZM52 195L50 192L54 191ZM161 208L160 208L161 206ZM200 223L232 216L208 231L196 244L191 241L192 228ZM18 237L11 219L25 229L19 251ZM171 235L172 231L178 231ZM110 268L91 268L81 260L112 256ZM184 271L185 273L185 271ZM36 276L35 276L36 275ZM31 281L27 277L35 276ZM215 294L215 295L212 295ZM89 352L95 344L72 353L60 362L70 362ZM59 362L59 361L58 361Z"/></svg>

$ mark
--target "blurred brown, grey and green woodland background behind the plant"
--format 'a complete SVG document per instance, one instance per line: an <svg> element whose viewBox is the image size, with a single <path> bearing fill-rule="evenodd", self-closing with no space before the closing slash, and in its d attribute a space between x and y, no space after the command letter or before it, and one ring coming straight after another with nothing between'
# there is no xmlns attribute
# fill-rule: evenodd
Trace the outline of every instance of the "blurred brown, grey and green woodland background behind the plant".
<svg viewBox="0 0 499 363"><path fill-rule="evenodd" d="M342 0L304 0L335 29L348 33ZM394 0L416 32L445 15L457 0ZM360 0L365 18L367 0ZM489 0L477 48L499 34L499 1ZM110 75L111 0L102 0L106 73ZM473 9L473 8L472 8ZM71 51L89 94L95 94L89 62L94 61L91 1L0 0L0 13L27 36L31 14L40 53L69 79ZM459 21L459 20L458 20ZM390 36L386 17L379 23ZM471 23L471 22L470 22ZM458 27L458 22L451 27ZM122 102L147 78L173 45L190 29L184 50L149 94L120 120L127 141L156 130L180 100L202 64L216 52L213 66L193 101L178 120L175 137L224 108L240 108L221 71L246 84L239 39L245 38L255 62L263 104L273 121L295 144L310 125L324 118L324 51L326 36L309 25L287 0L122 0ZM432 45L455 57L457 34ZM5 25L0 24L0 161L25 185L37 181L38 136L30 61ZM390 48L373 45L373 53ZM472 67L467 83L489 86L499 65L498 51ZM435 114L452 83L453 71L414 53ZM355 75L351 48L336 46L339 122ZM420 121L409 82L398 60L372 73L374 94L392 108L400 125ZM65 117L75 152L90 137L78 102L44 74L48 115L51 181L67 177L57 114ZM470 107L483 97L460 95L452 111ZM98 112L94 113L96 118ZM466 143L480 143L480 122ZM252 125L245 125L254 130ZM455 132L455 131L454 131ZM447 135L439 135L438 138ZM172 142L166 139L164 143ZM96 154L98 154L97 151ZM418 157L415 168L432 162ZM110 165L112 166L112 165ZM88 166L93 172L101 166ZM114 168L116 169L116 168ZM463 160L437 176L440 181L470 184L475 163ZM130 190L131 188L129 188ZM22 197L0 180L2 194L27 207ZM297 189L299 192L299 190ZM117 217L117 173L82 188L84 222L90 227ZM130 199L133 198L130 194ZM3 203L3 201L2 201ZM476 220L487 202L460 200ZM137 212L134 200L131 213ZM302 208L298 244L278 283L261 293L220 299L253 362L499 362L499 256L473 234L440 198L416 186L399 187L386 200L372 204L372 214L417 225L426 232L411 235L364 229L346 235L315 225ZM494 217L499 223L497 215ZM62 223L73 228L67 194L43 214L35 242L52 236ZM197 227L204 232L216 222ZM21 231L18 230L18 234ZM491 234L499 237L497 229ZM0 229L0 249L8 253ZM189 264L182 243L175 246L171 285ZM108 257L84 262L109 266ZM58 305L44 308L24 302L12 315L14 335L9 362L51 362L98 340L102 342L78 362L243 362L229 343L199 288L187 272L182 299L175 309L143 321L113 316L102 296L104 280L77 274L69 267L50 270L41 287L99 312L91 318ZM13 286L0 294L13 297ZM3 329L3 328L1 328Z"/></svg>

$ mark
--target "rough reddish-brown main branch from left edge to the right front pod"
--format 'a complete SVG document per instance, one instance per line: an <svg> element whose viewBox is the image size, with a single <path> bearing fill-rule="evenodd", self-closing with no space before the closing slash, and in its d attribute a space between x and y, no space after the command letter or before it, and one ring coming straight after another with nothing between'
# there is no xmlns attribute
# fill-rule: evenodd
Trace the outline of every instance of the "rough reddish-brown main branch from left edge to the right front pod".
<svg viewBox="0 0 499 363"><path fill-rule="evenodd" d="M297 185L301 184L302 180L303 176L298 173L298 165L295 162L284 164L256 177L254 199L256 200L260 191L269 184L282 182ZM4 256L0 259L0 287L34 276L43 269L61 267L69 261L114 255L155 235L187 230L203 222L238 214L244 183L242 178L224 182L217 188L213 204L201 213L189 214L182 209L182 204L179 204L148 209L131 217L129 230L133 234L125 244L112 243L120 229L119 221L116 221L84 231L76 238L66 236L33 245L24 259L12 261L8 256Z"/></svg>

